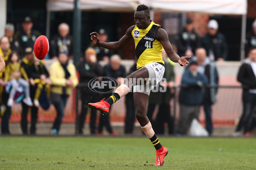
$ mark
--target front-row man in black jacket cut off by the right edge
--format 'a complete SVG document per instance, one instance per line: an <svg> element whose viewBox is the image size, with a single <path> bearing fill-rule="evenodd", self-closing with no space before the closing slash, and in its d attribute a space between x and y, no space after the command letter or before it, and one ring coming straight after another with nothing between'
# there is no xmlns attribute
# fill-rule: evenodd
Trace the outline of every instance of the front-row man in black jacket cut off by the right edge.
<svg viewBox="0 0 256 170"><path fill-rule="evenodd" d="M241 65L237 76L237 80L243 85L244 109L234 136L240 135L242 127L244 134L250 135L250 127L253 123L252 114L256 105L256 48L251 48L248 54L249 57Z"/></svg>

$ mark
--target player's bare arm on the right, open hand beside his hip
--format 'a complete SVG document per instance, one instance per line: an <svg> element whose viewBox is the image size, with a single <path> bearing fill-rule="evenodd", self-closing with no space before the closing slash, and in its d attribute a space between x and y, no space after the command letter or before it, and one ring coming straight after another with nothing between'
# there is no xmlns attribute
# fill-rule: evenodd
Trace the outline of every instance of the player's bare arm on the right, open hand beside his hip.
<svg viewBox="0 0 256 170"><path fill-rule="evenodd" d="M171 59L173 62L178 62L183 67L186 67L186 65L189 64L187 59L191 57L179 57L178 54L173 51L172 45L168 38L168 34L163 28L159 28L157 30L157 39L162 43L169 59Z"/></svg>

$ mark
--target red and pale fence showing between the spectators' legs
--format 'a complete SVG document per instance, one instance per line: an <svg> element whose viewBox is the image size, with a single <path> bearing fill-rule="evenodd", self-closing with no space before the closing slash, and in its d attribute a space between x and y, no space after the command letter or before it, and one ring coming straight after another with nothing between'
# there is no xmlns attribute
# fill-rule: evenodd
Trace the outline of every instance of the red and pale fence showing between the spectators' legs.
<svg viewBox="0 0 256 170"><path fill-rule="evenodd" d="M65 116L63 118L63 123L61 125L60 134L62 135L74 135L76 131L76 118L77 115L81 113L81 94L78 86L73 89L73 93L70 95L65 108ZM178 118L180 115L180 107L178 102L180 87L175 89L175 97L170 101L171 115L174 118L173 127L177 127ZM242 88L241 86L218 86L218 93L216 95L217 102L212 105L212 123L213 123L213 133L212 136L231 136L239 122L239 118L242 112L242 100L241 100ZM157 116L157 111L159 107L156 107L152 116L152 120ZM12 108L12 113L10 117L10 131L12 134L20 134L20 121L21 121L21 104L17 103ZM30 112L30 111L29 111ZM99 113L97 114L96 125L99 123ZM37 123L37 134L49 134L49 129L52 126L56 116L56 111L53 105L45 111L39 108L38 111L38 123ZM116 104L111 107L110 122L113 127L113 131L118 135L124 134L126 116L126 105L125 97L120 99ZM30 113L28 114L28 120L30 122ZM198 114L198 120L201 126L205 127L205 114L203 107L200 108ZM84 127L84 134L90 134L88 130L88 124L90 122L90 109L86 116L86 122ZM133 134L142 134L140 125L135 120L134 122L134 132ZM165 124L166 129L167 124ZM169 135L169 133L164 133ZM174 130L175 134L175 130Z"/></svg>

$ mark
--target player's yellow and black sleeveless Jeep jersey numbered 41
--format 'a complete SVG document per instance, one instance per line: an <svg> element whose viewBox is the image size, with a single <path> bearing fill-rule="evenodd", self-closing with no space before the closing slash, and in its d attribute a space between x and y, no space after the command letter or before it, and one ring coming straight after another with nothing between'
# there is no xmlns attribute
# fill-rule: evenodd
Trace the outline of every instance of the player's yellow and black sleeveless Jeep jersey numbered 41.
<svg viewBox="0 0 256 170"><path fill-rule="evenodd" d="M131 32L135 42L136 56L138 59L137 68L141 68L150 62L163 63L162 50L163 46L157 40L157 29L160 25L151 21L146 29L139 29L134 26Z"/></svg>

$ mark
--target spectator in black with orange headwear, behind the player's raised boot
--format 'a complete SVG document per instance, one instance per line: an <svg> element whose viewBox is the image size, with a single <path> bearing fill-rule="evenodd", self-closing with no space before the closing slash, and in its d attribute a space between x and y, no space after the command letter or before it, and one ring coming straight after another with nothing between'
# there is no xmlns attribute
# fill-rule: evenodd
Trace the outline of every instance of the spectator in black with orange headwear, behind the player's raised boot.
<svg viewBox="0 0 256 170"><path fill-rule="evenodd" d="M101 98L101 94L92 91L88 84L91 79L103 76L104 71L99 62L97 61L97 53L93 48L87 48L84 52L84 59L78 65L78 72L80 77L80 91L82 108L81 113L77 119L76 133L83 134L85 116L87 115L88 108L85 107L90 102L97 102ZM100 91L100 89L97 89ZM90 133L96 134L96 111L90 111Z"/></svg>

